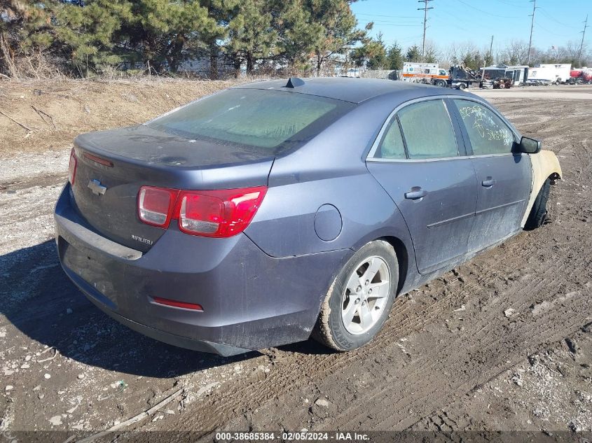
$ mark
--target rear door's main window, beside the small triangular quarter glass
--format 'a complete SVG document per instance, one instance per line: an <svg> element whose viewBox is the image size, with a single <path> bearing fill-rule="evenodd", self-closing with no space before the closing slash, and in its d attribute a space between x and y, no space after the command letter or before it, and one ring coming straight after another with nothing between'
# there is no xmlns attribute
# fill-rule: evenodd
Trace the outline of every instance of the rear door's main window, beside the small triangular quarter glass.
<svg viewBox="0 0 592 443"><path fill-rule="evenodd" d="M397 115L409 158L422 160L458 155L450 115L442 100L411 104Z"/></svg>

